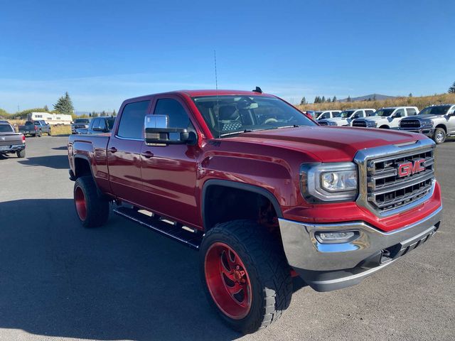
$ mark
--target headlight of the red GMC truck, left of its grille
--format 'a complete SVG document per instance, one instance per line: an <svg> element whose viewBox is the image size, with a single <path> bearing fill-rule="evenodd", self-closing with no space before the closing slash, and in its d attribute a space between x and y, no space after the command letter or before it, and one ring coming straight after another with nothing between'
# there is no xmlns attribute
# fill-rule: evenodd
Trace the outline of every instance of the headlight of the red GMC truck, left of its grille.
<svg viewBox="0 0 455 341"><path fill-rule="evenodd" d="M354 163L304 164L300 168L301 193L309 202L351 201L358 195L358 169Z"/></svg>

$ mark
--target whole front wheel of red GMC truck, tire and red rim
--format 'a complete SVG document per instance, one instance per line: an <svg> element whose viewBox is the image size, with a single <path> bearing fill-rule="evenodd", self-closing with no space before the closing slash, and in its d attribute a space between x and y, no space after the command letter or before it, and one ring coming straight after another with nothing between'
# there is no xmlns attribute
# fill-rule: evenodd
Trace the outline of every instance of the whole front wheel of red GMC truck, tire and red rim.
<svg viewBox="0 0 455 341"><path fill-rule="evenodd" d="M200 276L210 304L238 332L266 328L291 303L281 239L250 220L218 224L205 234Z"/></svg>

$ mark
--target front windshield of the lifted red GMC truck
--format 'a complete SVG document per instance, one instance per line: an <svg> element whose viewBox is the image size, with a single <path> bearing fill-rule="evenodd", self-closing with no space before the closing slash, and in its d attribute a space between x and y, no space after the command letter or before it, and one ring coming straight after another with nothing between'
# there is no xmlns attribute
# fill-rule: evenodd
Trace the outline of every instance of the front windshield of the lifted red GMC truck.
<svg viewBox="0 0 455 341"><path fill-rule="evenodd" d="M213 136L316 126L299 110L275 97L222 95L193 97L193 100Z"/></svg>

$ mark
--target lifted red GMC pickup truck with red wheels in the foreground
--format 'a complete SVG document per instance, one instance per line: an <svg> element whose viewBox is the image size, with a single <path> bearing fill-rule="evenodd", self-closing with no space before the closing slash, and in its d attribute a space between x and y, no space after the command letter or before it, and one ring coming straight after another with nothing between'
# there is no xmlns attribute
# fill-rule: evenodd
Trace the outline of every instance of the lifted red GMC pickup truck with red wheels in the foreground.
<svg viewBox="0 0 455 341"><path fill-rule="evenodd" d="M442 208L434 148L422 134L318 126L259 89L127 99L112 133L68 142L82 225L105 224L114 202L198 249L208 301L241 332L282 315L292 276L345 288L427 242Z"/></svg>

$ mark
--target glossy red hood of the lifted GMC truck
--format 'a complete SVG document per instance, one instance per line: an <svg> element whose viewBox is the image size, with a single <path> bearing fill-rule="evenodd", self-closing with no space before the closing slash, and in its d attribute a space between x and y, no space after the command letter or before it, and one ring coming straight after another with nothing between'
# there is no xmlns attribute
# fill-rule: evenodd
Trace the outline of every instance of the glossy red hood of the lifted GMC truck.
<svg viewBox="0 0 455 341"><path fill-rule="evenodd" d="M342 126L301 126L240 134L229 140L301 151L320 162L352 161L355 153L365 148L427 139L421 134Z"/></svg>

